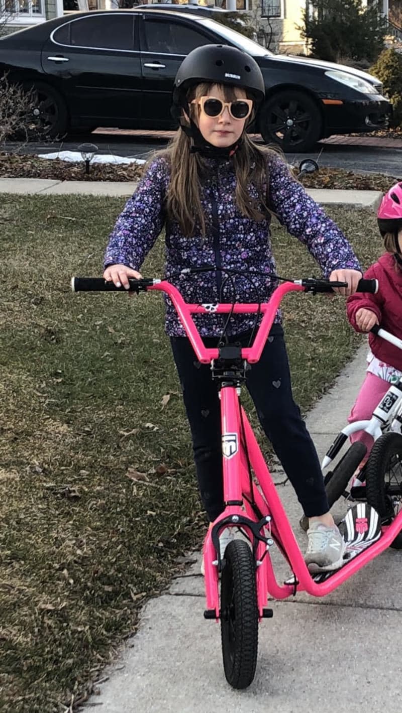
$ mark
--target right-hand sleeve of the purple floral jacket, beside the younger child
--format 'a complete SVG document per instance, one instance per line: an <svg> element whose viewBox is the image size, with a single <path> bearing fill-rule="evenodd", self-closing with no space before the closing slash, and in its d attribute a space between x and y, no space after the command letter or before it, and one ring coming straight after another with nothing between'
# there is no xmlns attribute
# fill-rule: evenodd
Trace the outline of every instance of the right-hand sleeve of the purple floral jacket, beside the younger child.
<svg viewBox="0 0 402 713"><path fill-rule="evenodd" d="M343 232L276 157L268 162L268 199L281 225L306 245L325 278L333 270L361 270Z"/></svg>

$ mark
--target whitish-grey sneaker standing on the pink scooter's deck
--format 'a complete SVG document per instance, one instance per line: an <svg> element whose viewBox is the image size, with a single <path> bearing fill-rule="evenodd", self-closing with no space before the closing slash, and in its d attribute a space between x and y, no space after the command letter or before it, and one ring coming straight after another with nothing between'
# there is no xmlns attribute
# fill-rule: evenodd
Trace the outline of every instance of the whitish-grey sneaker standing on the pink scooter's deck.
<svg viewBox="0 0 402 713"><path fill-rule="evenodd" d="M308 545L304 561L310 572L331 572L343 565L345 540L336 525L316 522L307 530Z"/></svg>

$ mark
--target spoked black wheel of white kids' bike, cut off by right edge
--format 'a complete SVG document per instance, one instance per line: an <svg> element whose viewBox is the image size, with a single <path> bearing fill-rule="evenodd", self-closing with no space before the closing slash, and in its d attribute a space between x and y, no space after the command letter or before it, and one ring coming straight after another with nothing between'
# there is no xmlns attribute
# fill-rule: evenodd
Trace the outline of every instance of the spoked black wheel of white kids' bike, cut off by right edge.
<svg viewBox="0 0 402 713"><path fill-rule="evenodd" d="M391 490L392 488L392 490ZM396 501L402 506L402 436L391 431L383 434L373 445L366 464L367 502L380 515L383 523L396 515ZM391 543L402 549L402 533Z"/></svg>

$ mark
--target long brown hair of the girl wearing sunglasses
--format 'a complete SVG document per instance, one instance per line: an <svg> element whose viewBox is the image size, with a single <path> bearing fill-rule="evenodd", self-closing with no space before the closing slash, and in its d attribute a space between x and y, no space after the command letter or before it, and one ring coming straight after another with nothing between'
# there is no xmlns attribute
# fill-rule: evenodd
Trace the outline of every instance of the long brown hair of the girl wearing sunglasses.
<svg viewBox="0 0 402 713"><path fill-rule="evenodd" d="M187 97L189 111L194 120L196 120L196 109L194 105L190 105L190 102L194 98L206 96L212 86L211 83L200 83L189 91ZM234 87L218 85L218 88L223 93L225 101L238 98ZM253 114L250 120L252 119ZM181 120L186 120L185 115ZM156 155L164 157L170 167L171 178L166 196L167 215L179 223L181 232L186 237L194 235L197 225L201 227L201 234L205 237L206 224L201 205L201 181L206 172L206 163L199 153L190 153L192 143L193 140L179 128L166 149L158 151ZM241 145L232 157L236 173L236 205L242 215L252 220L261 221L267 214L271 214L267 200L266 170L267 157L271 153L273 153L272 149L257 146L248 138L246 131L243 131ZM154 158L155 154L150 160ZM256 186L258 199L252 198L248 192L251 181Z"/></svg>

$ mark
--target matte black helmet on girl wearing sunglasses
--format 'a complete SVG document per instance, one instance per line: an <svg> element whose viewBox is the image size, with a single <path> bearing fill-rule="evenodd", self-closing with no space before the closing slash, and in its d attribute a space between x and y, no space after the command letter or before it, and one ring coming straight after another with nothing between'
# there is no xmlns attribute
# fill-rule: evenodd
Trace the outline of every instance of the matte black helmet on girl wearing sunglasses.
<svg viewBox="0 0 402 713"><path fill-rule="evenodd" d="M182 61L174 80L173 103L186 106L186 93L200 82L230 84L246 89L258 104L265 97L265 85L256 60L236 47L203 45Z"/></svg>

